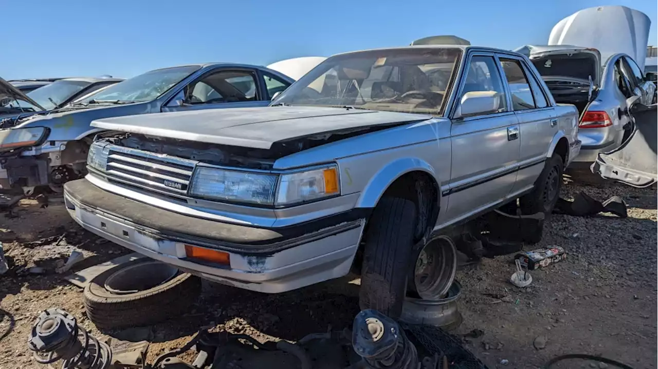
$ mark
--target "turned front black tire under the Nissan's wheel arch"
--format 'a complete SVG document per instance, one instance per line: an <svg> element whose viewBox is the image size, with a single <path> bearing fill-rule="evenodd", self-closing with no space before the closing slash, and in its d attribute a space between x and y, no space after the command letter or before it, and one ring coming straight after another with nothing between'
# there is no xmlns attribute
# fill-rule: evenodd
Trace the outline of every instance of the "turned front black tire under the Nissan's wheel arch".
<svg viewBox="0 0 658 369"><path fill-rule="evenodd" d="M361 309L390 318L402 313L407 291L417 211L413 202L384 197L374 208L365 237L361 267Z"/></svg>

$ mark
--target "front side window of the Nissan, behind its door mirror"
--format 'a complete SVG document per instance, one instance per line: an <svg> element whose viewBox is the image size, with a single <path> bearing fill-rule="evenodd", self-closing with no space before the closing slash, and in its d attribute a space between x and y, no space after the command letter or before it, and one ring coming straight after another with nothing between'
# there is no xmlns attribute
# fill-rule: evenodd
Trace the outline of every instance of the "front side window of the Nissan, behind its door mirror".
<svg viewBox="0 0 658 369"><path fill-rule="evenodd" d="M493 56L473 56L470 59L466 81L459 100L465 93L475 91L495 91L500 94L499 112L507 110L507 97L503 87L503 79L498 72Z"/></svg>

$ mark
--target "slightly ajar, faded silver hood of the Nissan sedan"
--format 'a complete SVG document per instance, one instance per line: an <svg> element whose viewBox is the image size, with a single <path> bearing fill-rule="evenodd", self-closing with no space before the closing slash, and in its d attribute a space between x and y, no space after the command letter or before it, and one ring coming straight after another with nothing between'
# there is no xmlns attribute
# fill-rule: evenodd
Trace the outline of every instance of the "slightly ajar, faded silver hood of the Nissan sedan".
<svg viewBox="0 0 658 369"><path fill-rule="evenodd" d="M93 127L170 139L269 149L288 141L348 129L424 121L432 116L355 108L268 106L193 110L97 119Z"/></svg>

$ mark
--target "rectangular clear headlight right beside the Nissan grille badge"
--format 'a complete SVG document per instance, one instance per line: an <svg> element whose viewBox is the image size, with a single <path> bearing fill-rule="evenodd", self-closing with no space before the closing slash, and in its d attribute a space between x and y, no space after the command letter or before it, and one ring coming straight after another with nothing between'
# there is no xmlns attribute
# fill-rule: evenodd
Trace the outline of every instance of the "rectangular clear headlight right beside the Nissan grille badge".
<svg viewBox="0 0 658 369"><path fill-rule="evenodd" d="M268 173L197 166L189 193L216 200L273 205L276 179L277 175Z"/></svg>

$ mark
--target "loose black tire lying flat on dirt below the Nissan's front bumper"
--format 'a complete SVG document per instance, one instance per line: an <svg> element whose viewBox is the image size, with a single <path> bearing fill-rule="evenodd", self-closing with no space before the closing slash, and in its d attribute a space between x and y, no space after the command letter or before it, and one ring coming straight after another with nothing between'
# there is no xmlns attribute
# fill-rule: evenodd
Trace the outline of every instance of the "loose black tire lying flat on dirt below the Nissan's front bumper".
<svg viewBox="0 0 658 369"><path fill-rule="evenodd" d="M201 293L201 280L190 273L179 273L149 290L117 295L105 289L105 280L120 268L151 259L137 259L105 271L84 289L84 305L89 320L97 328L147 326L184 313Z"/></svg>

